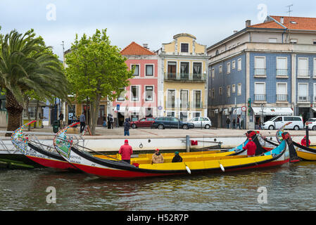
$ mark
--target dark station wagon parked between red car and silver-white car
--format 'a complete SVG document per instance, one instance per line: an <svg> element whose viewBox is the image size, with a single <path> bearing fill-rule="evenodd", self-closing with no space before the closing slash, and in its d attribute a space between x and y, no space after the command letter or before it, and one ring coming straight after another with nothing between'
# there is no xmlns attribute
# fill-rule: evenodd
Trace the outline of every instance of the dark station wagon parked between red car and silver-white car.
<svg viewBox="0 0 316 225"><path fill-rule="evenodd" d="M182 122L176 117L157 117L153 122L153 128L165 129L165 128L182 128L189 129L194 128L194 124L191 122Z"/></svg>

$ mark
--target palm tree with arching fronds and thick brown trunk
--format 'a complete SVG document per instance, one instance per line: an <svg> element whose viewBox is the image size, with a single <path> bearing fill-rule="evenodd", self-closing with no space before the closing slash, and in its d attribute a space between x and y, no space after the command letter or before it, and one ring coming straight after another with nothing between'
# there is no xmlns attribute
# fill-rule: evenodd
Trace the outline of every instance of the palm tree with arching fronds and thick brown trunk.
<svg viewBox="0 0 316 225"><path fill-rule="evenodd" d="M27 90L45 99L67 98L68 82L62 63L42 37L34 36L33 30L25 34L13 30L0 37L0 86L6 90L8 131L20 127Z"/></svg>

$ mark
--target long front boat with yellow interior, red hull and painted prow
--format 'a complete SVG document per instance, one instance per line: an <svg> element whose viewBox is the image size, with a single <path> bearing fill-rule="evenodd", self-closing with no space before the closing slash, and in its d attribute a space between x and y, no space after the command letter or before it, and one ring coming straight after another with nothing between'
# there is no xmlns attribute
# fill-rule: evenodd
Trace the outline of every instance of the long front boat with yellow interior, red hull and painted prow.
<svg viewBox="0 0 316 225"><path fill-rule="evenodd" d="M74 167L87 174L106 179L134 179L149 176L172 176L180 174L199 174L204 172L229 172L242 169L256 169L274 167L289 162L289 135L284 135L284 141L276 148L263 153L263 155L247 158L246 155L223 156L215 160L188 160L183 162L165 162L160 164L131 165L120 160L106 160L96 158L80 150L72 144L66 136L67 128L58 132L53 145L65 160ZM288 143L289 141L289 143ZM76 162L72 159L76 159Z"/></svg>

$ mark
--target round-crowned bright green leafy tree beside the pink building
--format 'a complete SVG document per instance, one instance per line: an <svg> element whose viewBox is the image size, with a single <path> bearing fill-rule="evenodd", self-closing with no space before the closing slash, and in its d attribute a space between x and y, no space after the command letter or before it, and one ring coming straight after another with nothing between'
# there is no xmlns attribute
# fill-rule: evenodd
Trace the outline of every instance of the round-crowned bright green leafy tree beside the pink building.
<svg viewBox="0 0 316 225"><path fill-rule="evenodd" d="M106 30L96 30L92 37L76 35L70 53L65 55L66 75L77 101L90 104L89 124L95 135L101 98L118 98L129 85L133 71L127 70L117 46L110 44Z"/></svg>

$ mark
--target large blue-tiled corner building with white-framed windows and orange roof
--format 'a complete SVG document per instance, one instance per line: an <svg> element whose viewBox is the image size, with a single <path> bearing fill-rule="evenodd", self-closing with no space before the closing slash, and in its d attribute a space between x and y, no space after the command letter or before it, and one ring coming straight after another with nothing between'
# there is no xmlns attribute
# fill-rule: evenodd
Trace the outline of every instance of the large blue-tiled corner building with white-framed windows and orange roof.
<svg viewBox="0 0 316 225"><path fill-rule="evenodd" d="M314 117L316 18L267 16L208 47L208 115L216 127L241 116L245 129L275 115ZM232 124L230 124L232 127Z"/></svg>

